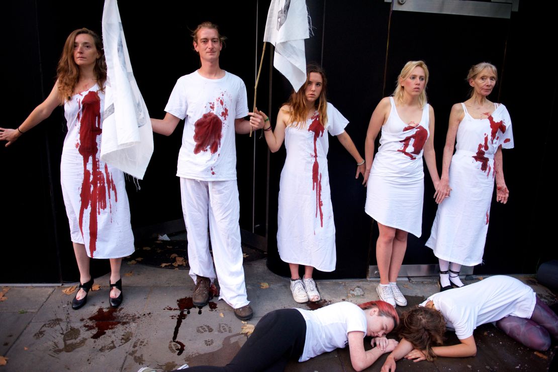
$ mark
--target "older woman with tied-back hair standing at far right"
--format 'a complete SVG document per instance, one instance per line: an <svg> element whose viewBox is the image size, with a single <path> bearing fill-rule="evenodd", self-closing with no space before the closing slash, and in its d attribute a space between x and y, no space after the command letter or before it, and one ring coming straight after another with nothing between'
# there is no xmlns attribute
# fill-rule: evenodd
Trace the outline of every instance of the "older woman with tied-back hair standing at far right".
<svg viewBox="0 0 558 372"><path fill-rule="evenodd" d="M488 100L497 81L496 67L475 65L467 80L472 95L451 108L442 161L440 187L451 190L451 197L438 207L426 242L439 259L441 291L463 286L461 265L482 262L494 180L496 200L506 204L509 195L502 148L513 148L512 122L504 105Z"/></svg>

